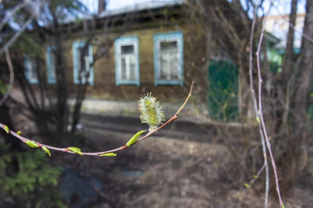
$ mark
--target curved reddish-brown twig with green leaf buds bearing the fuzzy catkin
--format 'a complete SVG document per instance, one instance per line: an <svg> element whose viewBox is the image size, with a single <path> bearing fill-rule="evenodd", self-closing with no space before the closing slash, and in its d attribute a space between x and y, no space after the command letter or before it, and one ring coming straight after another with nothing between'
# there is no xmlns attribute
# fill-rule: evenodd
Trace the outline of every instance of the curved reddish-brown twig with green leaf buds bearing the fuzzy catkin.
<svg viewBox="0 0 313 208"><path fill-rule="evenodd" d="M173 115L172 118L170 118L167 122L165 122L161 127L159 127L158 129L155 129L154 131L151 131L151 132L147 133L145 136L143 136L142 138L138 139L138 140L137 140L136 142L134 142L133 144L136 144L136 143L138 143L138 142L144 140L145 138L151 136L151 135L154 134L155 132L157 132L157 131L159 131L160 129L162 129L163 127L165 127L167 124L169 124L169 123L172 122L173 120L176 120L176 119L178 118L178 117L177 117L178 113L179 113L180 110L185 106L185 104L187 103L188 99L189 99L190 96L191 96L192 86L193 86L193 81L192 81L191 88L190 88L190 92L189 92L189 95L188 95L186 101L184 102L184 104L182 105L182 107L177 111L177 113L175 113L175 115ZM5 124L0 123L0 128L6 130L6 129L7 129L7 126L6 126ZM8 130L8 129L7 129L7 130ZM7 130L6 130L6 131L7 131ZM16 138L20 139L20 140L21 140L22 142L24 142L24 143L26 143L26 141L32 141L32 140L29 140L29 139L27 139L27 138L25 138L25 137L22 137L22 136L18 135L16 132L13 132L13 131L11 131L11 130L8 130L8 132L9 132L9 134L15 136ZM48 149L53 149L53 150L56 150L56 151L61 151L61 152L67 152L67 153L72 153L72 154L74 154L74 152L68 150L69 147L67 147L67 148L58 148L58 147L53 147L53 146L41 144L41 143L35 142L35 141L33 141L33 143L37 144L39 147L45 146L45 147L47 147ZM117 151L120 151L120 150L124 150L124 149L126 149L127 147L129 147L129 146L124 145L124 146L121 146L121 147L119 147L119 148L111 149L111 150L107 150L107 151L103 151L103 152L83 152L83 154L84 154L84 155L99 156L99 155L101 155L101 154L112 153L112 152L117 152Z"/></svg>

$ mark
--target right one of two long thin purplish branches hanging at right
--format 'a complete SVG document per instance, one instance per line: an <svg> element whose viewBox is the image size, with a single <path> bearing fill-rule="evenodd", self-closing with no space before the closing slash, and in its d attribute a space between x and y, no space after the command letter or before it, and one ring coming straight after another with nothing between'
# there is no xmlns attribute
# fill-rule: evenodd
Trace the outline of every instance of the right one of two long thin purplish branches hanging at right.
<svg viewBox="0 0 313 208"><path fill-rule="evenodd" d="M269 13L269 11L270 11L270 8L268 10L268 13ZM268 149L268 152L269 152L269 155L270 155L270 158L271 158L271 163L272 163L272 167L273 167L274 174L275 174L275 179L276 179L276 190L277 190L278 197L279 197L280 207L282 208L283 201L282 201L281 192L280 192L279 183L278 183L277 169L276 169L276 164L275 164L275 160L274 160L272 151L270 149L270 142L269 142L269 139L268 139L268 136L267 136L267 132L266 132L266 127L265 127L265 122L264 122L263 112L262 112L262 100L261 100L261 98L262 98L262 95L261 95L262 91L261 90L262 90L262 82L263 82L263 80L262 80L262 77L261 77L261 68L260 68L260 50L261 50L261 45L262 45L262 40L263 40L263 35L264 35L264 30L265 30L265 23L266 23L266 18L268 16L268 13L265 16L264 21L263 21L263 27L262 27L262 31L261 31L261 35L260 35L258 49L257 49L257 52L255 53L256 57L257 57L257 68L258 68L258 79L259 79L259 112L258 112L258 115L259 115L260 120L261 120L262 129L263 129L263 132L264 132L264 135L265 135L265 141L266 141L267 149Z"/></svg>

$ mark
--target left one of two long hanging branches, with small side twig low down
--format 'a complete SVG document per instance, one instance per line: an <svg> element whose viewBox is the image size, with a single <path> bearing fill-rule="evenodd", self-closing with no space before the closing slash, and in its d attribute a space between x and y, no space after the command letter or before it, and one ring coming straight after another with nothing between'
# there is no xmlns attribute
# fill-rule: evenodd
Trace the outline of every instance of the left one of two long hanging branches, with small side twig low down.
<svg viewBox="0 0 313 208"><path fill-rule="evenodd" d="M254 7L254 17L253 17L253 21L252 21L252 26L251 26L251 33L250 33L250 51L249 51L249 76L250 76L250 89L251 89L251 95L252 95L252 100L253 100L253 104L254 104L254 110L255 110L255 114L258 114L258 106L257 106L257 101L256 101L256 95L255 95L255 91L254 91L254 87L253 87L253 77L252 77L252 50L253 50L253 34L254 34L254 27L255 27L255 21L257 18L256 12L257 12L257 7L258 5L256 4ZM260 173L263 171L263 169L265 168L265 199L264 199L264 208L267 207L267 202L268 202L268 190L269 190L269 174L268 174L268 163L267 163L267 154L266 154L266 147L265 147L265 141L264 141L264 135L262 132L262 126L261 123L259 123L259 133L261 136L261 142L262 142L262 151L263 151L263 158L264 158L264 164L263 167L260 169L260 171L257 174L257 177L254 178L251 182L249 187L251 186L252 183L254 183L254 181L258 178L258 176L260 175Z"/></svg>

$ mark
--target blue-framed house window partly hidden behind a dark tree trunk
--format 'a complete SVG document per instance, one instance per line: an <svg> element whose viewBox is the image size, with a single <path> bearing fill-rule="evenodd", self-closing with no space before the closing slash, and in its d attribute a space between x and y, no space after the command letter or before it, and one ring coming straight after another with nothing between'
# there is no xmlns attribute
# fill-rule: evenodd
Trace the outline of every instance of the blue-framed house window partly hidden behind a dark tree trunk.
<svg viewBox="0 0 313 208"><path fill-rule="evenodd" d="M79 76L82 78L82 84L86 83L86 77L89 73L88 84L94 85L94 67L93 67L93 47L89 45L88 50L83 55L83 63L81 63L81 53L85 47L84 41L73 42L73 74L74 84L80 84ZM83 65L83 66L81 66Z"/></svg>

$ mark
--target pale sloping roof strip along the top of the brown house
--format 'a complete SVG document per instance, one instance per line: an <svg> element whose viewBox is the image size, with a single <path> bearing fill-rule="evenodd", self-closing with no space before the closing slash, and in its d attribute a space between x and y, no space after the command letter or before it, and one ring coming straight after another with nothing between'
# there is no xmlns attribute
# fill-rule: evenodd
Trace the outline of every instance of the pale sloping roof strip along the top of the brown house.
<svg viewBox="0 0 313 208"><path fill-rule="evenodd" d="M98 17L105 18L105 17L122 15L122 14L127 14L127 13L132 13L132 12L141 12L145 10L153 10L153 9L159 9L159 8L164 8L164 7L174 7L174 6L182 5L185 2L186 0L151 1L151 2L146 2L146 3L135 4L135 5L128 6L128 7L123 7L121 9L116 9L116 10L111 10L111 11L106 10L98 14Z"/></svg>

